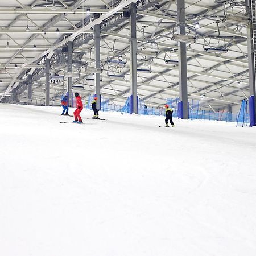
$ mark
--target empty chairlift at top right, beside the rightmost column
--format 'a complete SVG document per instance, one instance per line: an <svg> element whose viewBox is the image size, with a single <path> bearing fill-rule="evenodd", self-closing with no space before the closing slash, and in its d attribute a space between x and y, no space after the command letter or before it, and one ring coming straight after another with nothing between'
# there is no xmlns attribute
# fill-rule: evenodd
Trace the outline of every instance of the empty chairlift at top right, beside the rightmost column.
<svg viewBox="0 0 256 256"><path fill-rule="evenodd" d="M228 14L229 9L236 10L236 13ZM242 3L228 2L224 5L224 19L225 23L232 23L235 25L247 26L250 22L250 10L247 11Z"/></svg>

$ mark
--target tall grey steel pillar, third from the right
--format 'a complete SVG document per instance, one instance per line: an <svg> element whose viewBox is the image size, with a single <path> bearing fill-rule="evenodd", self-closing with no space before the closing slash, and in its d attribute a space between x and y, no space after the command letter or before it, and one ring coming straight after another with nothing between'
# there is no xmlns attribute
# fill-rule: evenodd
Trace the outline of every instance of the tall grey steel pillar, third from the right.
<svg viewBox="0 0 256 256"><path fill-rule="evenodd" d="M138 101L137 101L137 36L136 36L136 3L130 4L130 60L131 60L131 96L133 97L133 113L138 114Z"/></svg>

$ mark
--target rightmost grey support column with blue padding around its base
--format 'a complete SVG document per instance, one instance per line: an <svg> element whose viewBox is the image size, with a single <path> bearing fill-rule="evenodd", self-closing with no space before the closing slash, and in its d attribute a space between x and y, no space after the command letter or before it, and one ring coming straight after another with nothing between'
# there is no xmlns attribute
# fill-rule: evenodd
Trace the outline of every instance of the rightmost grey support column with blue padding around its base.
<svg viewBox="0 0 256 256"><path fill-rule="evenodd" d="M251 13L251 20L247 26L247 49L248 49L248 64L249 64L249 84L250 84L250 97L249 97L249 111L250 111L250 126L256 125L256 89L255 89L255 49L256 49L256 17L255 5L251 5L251 0L246 0L248 13Z"/></svg>

